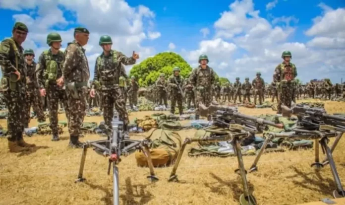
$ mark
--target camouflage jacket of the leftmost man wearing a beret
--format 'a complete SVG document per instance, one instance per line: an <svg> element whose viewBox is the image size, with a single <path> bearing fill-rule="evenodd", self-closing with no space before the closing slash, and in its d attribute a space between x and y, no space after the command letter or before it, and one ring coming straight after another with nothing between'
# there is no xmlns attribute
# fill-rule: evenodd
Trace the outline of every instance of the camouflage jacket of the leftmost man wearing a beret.
<svg viewBox="0 0 345 205"><path fill-rule="evenodd" d="M5 39L0 45L0 66L2 77L7 80L1 80L1 90L9 88L9 74L10 72L20 72L20 79L15 83L14 92L26 92L26 67L24 60L23 47L18 45L13 38ZM4 82L6 81L6 82Z"/></svg>

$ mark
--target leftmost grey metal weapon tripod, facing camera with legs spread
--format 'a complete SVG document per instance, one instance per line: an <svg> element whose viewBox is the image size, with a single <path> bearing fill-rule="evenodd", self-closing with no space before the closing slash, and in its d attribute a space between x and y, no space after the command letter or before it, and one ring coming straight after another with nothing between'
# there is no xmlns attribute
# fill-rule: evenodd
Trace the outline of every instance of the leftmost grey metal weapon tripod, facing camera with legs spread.
<svg viewBox="0 0 345 205"><path fill-rule="evenodd" d="M84 182L86 180L85 178L83 178L86 153L89 147L93 147L96 153L104 157L109 157L108 175L110 175L110 170L113 165L114 205L119 205L117 164L121 161L120 156L128 156L129 154L135 152L137 149L143 151L143 153L145 154L147 158L148 166L150 169L150 176L148 176L147 178L151 182L158 181L158 178L155 175L152 160L151 160L151 155L150 155L150 150L149 150L150 141L147 139L145 140L126 139L123 136L123 122L119 121L117 116L114 117L111 128L108 128L107 126L103 126L101 127L101 129L107 130L108 139L97 140L97 141L87 141L84 143L78 178L75 182Z"/></svg>

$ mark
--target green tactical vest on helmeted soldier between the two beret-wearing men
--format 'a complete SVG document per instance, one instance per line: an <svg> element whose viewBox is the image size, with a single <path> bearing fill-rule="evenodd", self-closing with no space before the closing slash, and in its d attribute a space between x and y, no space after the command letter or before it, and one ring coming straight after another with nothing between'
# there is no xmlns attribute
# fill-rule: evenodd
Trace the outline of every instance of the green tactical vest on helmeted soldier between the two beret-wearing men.
<svg viewBox="0 0 345 205"><path fill-rule="evenodd" d="M48 87L49 82L56 82L58 77L58 69L63 66L63 58L58 59L58 61L53 59L53 54L49 50L43 52L46 69L44 70L45 87ZM58 51L58 56L63 56L62 51Z"/></svg>

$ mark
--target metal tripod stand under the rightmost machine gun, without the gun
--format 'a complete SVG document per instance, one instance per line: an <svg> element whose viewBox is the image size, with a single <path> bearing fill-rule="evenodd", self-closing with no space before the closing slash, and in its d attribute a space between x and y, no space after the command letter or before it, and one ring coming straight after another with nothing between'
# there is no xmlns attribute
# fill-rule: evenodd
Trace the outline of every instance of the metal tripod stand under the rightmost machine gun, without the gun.
<svg viewBox="0 0 345 205"><path fill-rule="evenodd" d="M328 128L329 126L327 126ZM326 126L320 126L320 130L323 130L322 128L326 128ZM261 154L264 152L266 145L269 141L271 141L274 137L287 137L287 138L295 138L295 139L314 139L315 140L315 162L311 164L312 167L315 167L316 169L320 169L324 167L324 163L320 163L319 158L319 144L321 145L322 151L324 154L326 154L326 161L330 164L332 175L334 178L334 181L336 183L336 190L333 191L333 197L334 198L343 198L345 197L345 190L343 189L341 180L339 178L339 174L337 171L336 164L334 163L332 152L335 149L338 141L340 140L340 137L342 137L342 132L327 132L322 133L320 131L308 131L308 130L299 130L295 129L293 130L297 132L297 134L277 134L277 133L270 133L269 136L266 138L264 144L262 145L260 152L256 156L253 164L251 165L249 169L249 173L253 171L257 171L257 163L261 157ZM329 130L328 130L329 131ZM335 142L332 145L332 149L328 146L329 139L328 137L336 137Z"/></svg>

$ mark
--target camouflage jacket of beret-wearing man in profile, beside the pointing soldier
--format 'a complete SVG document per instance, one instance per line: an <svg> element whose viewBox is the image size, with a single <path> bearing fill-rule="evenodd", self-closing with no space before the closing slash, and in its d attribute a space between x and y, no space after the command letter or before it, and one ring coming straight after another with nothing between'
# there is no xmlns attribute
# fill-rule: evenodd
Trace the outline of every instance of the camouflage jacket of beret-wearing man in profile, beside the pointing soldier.
<svg viewBox="0 0 345 205"><path fill-rule="evenodd" d="M65 82L88 82L90 69L85 55L85 49L75 40L67 44L64 52L62 74Z"/></svg>

